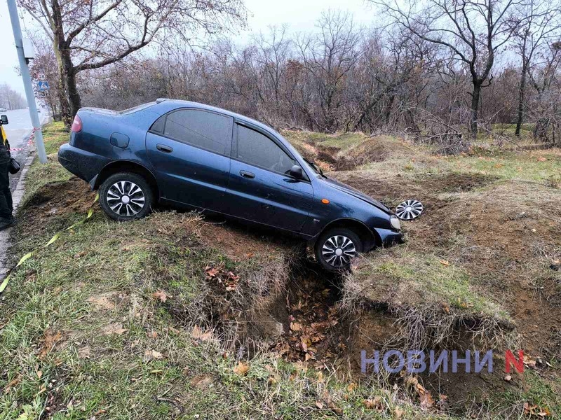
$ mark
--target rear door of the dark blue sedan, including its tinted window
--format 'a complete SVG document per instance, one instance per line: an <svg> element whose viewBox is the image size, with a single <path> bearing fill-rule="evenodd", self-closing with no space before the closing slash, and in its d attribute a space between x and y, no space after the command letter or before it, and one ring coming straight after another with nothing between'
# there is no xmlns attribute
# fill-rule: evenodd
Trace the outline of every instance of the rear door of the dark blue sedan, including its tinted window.
<svg viewBox="0 0 561 420"><path fill-rule="evenodd" d="M158 118L146 150L165 200L224 212L233 118L177 109Z"/></svg>

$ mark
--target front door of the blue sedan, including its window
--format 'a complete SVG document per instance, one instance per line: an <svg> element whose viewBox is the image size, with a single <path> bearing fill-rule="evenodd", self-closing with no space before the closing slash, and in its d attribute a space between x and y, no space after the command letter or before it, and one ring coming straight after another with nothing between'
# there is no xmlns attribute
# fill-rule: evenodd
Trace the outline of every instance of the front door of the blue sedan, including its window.
<svg viewBox="0 0 561 420"><path fill-rule="evenodd" d="M295 158L257 127L235 124L227 189L228 214L298 232L308 217L313 188L288 175Z"/></svg>

